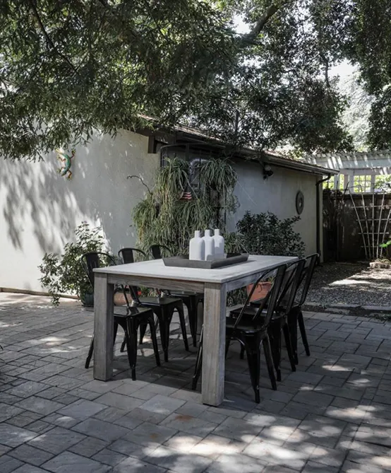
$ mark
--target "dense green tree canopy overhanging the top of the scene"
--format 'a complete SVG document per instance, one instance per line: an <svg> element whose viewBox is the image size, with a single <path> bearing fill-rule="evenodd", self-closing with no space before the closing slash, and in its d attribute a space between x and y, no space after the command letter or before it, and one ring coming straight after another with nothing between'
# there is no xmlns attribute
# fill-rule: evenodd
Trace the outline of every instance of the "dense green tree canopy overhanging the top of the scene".
<svg viewBox="0 0 391 473"><path fill-rule="evenodd" d="M330 68L359 62L391 121L388 3L1 0L0 153L35 157L145 115L257 150L350 149Z"/></svg>

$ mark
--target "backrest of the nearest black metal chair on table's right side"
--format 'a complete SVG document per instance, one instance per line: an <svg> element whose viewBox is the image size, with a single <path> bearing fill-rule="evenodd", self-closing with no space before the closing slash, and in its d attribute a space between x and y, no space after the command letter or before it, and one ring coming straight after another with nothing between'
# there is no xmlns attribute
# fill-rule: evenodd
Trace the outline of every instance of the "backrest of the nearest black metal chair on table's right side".
<svg viewBox="0 0 391 473"><path fill-rule="evenodd" d="M272 315L275 313L275 308L277 306L277 301L281 293L282 281L284 279L284 274L286 270L287 264L280 264L275 269L265 271L258 278L255 284L253 284L253 288L248 294L246 302L244 303L243 308L241 309L238 317L236 318L234 328L238 327L241 322L241 318L243 317L243 314L246 313L246 310L251 305L251 296L253 296L253 292L255 291L255 288L258 286L258 284L261 281L267 281L268 279L272 279L272 287L267 293L267 296L260 300L260 305L258 305L255 315L253 316L251 321L255 326L259 327L260 315L262 315L263 310L267 307L266 317L262 325L262 329L267 329L270 324L270 320L272 320Z"/></svg>

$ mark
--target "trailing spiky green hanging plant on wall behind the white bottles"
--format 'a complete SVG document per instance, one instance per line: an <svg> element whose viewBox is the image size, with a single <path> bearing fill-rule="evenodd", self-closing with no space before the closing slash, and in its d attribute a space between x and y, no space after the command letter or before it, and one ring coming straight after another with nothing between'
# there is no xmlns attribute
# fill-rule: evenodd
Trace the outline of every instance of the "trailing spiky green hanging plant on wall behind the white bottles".
<svg viewBox="0 0 391 473"><path fill-rule="evenodd" d="M220 217L235 208L236 172L228 160L210 159L200 164L199 175L202 185L195 192L186 160L167 158L167 164L157 170L155 186L133 209L138 245L143 250L158 243L173 254L186 254L194 230L219 227L224 232ZM218 205L211 188L218 192Z"/></svg>

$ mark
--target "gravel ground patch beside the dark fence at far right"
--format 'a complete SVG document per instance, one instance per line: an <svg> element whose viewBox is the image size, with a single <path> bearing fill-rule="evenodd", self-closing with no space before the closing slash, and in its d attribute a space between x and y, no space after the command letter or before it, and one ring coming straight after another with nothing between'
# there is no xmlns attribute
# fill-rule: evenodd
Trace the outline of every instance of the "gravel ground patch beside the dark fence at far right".
<svg viewBox="0 0 391 473"><path fill-rule="evenodd" d="M325 263L315 268L307 303L391 306L391 269L368 264Z"/></svg>

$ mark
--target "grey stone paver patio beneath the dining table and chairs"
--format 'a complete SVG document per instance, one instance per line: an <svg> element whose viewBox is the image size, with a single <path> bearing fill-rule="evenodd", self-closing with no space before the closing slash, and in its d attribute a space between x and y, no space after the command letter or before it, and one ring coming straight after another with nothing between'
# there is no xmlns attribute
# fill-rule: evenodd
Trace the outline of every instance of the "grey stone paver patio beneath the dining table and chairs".
<svg viewBox="0 0 391 473"><path fill-rule="evenodd" d="M169 363L147 337L132 381L119 337L114 380L93 380L92 320L73 300L0 293L1 473L391 471L391 323L307 313L311 357L296 373L284 360L277 392L263 370L258 405L233 346L215 408L190 390L178 330Z"/></svg>

